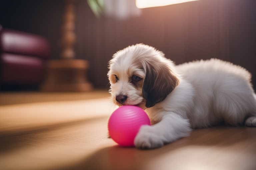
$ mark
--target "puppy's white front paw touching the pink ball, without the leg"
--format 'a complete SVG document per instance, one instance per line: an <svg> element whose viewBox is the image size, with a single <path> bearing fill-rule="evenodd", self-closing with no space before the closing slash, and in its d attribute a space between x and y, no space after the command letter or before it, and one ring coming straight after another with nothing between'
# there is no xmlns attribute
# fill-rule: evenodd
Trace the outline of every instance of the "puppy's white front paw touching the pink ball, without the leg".
<svg viewBox="0 0 256 170"><path fill-rule="evenodd" d="M140 128L138 134L134 139L134 145L141 149L153 149L162 147L164 141L157 133L154 133L153 127L144 125Z"/></svg>

